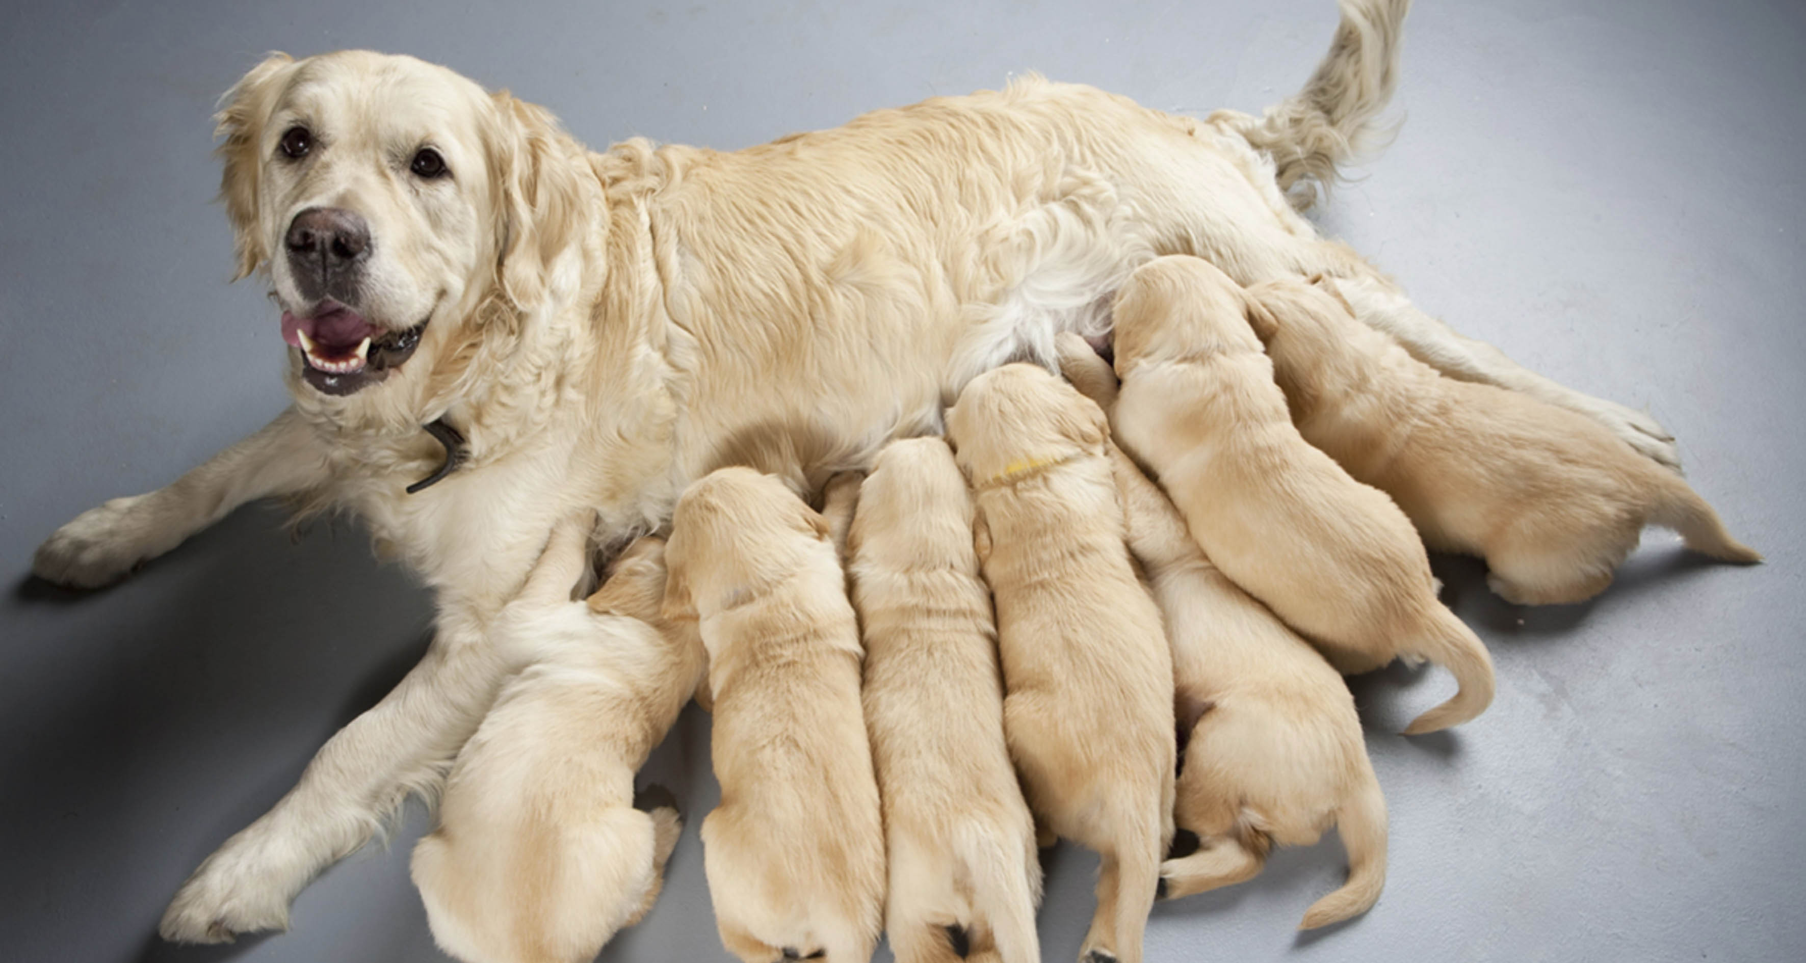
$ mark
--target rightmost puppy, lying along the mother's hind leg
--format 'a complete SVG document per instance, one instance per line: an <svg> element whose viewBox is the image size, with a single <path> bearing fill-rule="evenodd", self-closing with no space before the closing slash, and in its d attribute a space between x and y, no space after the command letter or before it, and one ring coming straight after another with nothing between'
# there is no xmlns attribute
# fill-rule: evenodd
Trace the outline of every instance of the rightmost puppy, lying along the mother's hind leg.
<svg viewBox="0 0 1806 963"><path fill-rule="evenodd" d="M1611 584L1645 524L1725 562L1761 562L1680 475L1597 421L1528 394L1443 378L1360 323L1335 282L1248 289L1248 320L1306 441L1389 495L1441 551L1479 555L1522 605Z"/></svg>

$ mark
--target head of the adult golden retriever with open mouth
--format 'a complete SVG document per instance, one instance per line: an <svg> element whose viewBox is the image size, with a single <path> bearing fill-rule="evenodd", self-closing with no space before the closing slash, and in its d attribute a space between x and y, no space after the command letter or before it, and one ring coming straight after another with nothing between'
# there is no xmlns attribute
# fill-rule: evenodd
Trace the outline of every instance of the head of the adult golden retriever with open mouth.
<svg viewBox="0 0 1806 963"><path fill-rule="evenodd" d="M576 145L444 67L271 54L215 119L237 276L267 275L298 396L419 387L471 325L544 298L578 242Z"/></svg>

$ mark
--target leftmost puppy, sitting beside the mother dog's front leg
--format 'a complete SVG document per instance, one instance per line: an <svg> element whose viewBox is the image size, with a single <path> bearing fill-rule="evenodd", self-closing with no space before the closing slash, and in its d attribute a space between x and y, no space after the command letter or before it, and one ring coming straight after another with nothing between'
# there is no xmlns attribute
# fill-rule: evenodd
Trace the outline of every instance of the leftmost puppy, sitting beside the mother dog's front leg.
<svg viewBox="0 0 1806 963"><path fill-rule="evenodd" d="M529 659L452 768L439 829L414 849L433 940L468 963L578 963L659 894L681 822L632 806L634 773L703 674L703 643L659 618L665 546L641 538L589 603L565 526L495 622ZM665 793L668 797L668 793Z"/></svg>

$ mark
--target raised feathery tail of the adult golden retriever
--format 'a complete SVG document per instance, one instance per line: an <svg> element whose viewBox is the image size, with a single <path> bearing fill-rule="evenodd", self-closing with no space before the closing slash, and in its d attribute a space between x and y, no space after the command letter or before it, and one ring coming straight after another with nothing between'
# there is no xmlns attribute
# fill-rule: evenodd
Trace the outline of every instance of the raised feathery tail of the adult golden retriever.
<svg viewBox="0 0 1806 963"><path fill-rule="evenodd" d="M1237 130L1273 157L1279 190L1308 210L1344 164L1387 130L1376 125L1398 87L1398 43L1410 0L1340 0L1342 23L1304 90Z"/></svg>

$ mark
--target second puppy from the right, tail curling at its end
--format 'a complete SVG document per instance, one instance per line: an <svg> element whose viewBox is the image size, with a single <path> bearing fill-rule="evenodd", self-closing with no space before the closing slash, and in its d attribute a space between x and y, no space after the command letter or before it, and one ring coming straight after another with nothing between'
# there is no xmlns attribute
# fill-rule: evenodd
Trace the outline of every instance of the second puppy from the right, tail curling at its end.
<svg viewBox="0 0 1806 963"><path fill-rule="evenodd" d="M1313 638L1342 672L1396 656L1454 672L1461 690L1407 734L1492 703L1492 658L1436 600L1405 513L1291 426L1248 296L1210 262L1165 257L1116 295L1116 437L1159 479L1192 537L1248 594Z"/></svg>

